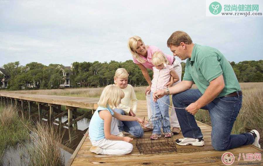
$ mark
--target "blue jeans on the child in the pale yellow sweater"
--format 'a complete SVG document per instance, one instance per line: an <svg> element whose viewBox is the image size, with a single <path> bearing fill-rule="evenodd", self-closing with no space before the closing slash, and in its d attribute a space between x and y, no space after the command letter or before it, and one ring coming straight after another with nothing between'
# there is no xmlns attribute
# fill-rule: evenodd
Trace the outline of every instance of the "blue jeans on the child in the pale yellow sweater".
<svg viewBox="0 0 263 166"><path fill-rule="evenodd" d="M114 111L121 115L125 115L122 109L114 109ZM117 119L117 125L120 132L129 132L134 137L142 137L144 135L144 130L137 121L121 121Z"/></svg>

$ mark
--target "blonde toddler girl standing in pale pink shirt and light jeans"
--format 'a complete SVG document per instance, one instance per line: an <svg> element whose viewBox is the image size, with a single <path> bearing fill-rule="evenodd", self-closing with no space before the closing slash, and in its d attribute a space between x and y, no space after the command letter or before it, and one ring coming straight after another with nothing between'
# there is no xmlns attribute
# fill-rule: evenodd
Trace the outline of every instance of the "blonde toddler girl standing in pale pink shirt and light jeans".
<svg viewBox="0 0 263 166"><path fill-rule="evenodd" d="M152 116L153 118L155 118L156 121L153 124L153 134L150 137L151 139L158 139L159 137L161 137L160 128L162 123L163 132L165 133L164 137L172 137L173 135L170 130L171 126L169 120L169 95L165 95L162 98L157 99L156 102L153 101L153 93L156 90L168 88L165 85L170 81L170 79L172 82L179 81L179 76L176 74L175 70L173 70L173 66L168 65L168 63L169 61L162 52L156 51L153 54L152 64L154 65L154 67L151 86L151 109L153 113ZM173 85L173 83L171 83L170 85Z"/></svg>

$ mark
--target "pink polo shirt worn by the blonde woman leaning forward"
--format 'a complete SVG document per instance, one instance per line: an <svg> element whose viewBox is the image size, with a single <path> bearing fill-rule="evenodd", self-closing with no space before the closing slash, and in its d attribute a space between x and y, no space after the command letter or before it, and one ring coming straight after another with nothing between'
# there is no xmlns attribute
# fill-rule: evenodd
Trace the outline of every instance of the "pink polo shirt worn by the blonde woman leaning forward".
<svg viewBox="0 0 263 166"><path fill-rule="evenodd" d="M156 51L161 51L158 47L156 47L156 46L148 46L148 48L147 48L147 58L146 57L144 57L144 56L141 56L141 55L139 55L143 60L146 60L146 62L145 63L142 63L142 65L144 65L144 67L146 67L147 69L151 69L151 70L153 70L153 67L154 67L154 65L152 64L152 55L153 55L153 53L154 52L156 52ZM162 52L162 51L161 51ZM162 52L163 53L163 52ZM169 64L171 65L172 63L173 63L173 56L171 56L171 55L167 55L167 54L165 54L165 53L163 53L164 55L165 55L165 57L167 58L167 60L169 61ZM135 63L135 64L141 64L140 62L138 62L134 57L132 57L133 58L133 62Z"/></svg>

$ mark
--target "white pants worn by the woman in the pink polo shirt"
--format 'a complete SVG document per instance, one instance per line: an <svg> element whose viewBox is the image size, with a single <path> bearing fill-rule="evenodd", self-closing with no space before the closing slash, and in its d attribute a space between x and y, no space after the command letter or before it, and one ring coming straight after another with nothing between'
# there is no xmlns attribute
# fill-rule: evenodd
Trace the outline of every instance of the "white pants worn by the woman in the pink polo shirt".
<svg viewBox="0 0 263 166"><path fill-rule="evenodd" d="M180 62L178 62L177 60L174 61L173 63L173 69L175 70L175 72L178 74L179 76L179 81L177 81L176 83L173 84L176 85L177 83L181 82L181 77L182 77L182 66L180 64ZM146 102L147 102L147 110L148 110L148 120L151 118L152 116L152 110L151 110L151 95L150 93L146 94ZM172 108L171 110L171 115L170 115L170 123L171 123L171 127L180 127L176 113L175 113L175 109ZM153 128L153 126L151 126L151 124L147 124L146 127L148 128Z"/></svg>

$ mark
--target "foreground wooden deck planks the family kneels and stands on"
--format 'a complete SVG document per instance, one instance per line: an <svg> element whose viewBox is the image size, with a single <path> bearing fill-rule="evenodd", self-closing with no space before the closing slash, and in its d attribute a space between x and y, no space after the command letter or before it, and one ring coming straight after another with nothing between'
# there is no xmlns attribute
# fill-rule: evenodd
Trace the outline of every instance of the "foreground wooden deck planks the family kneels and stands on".
<svg viewBox="0 0 263 166"><path fill-rule="evenodd" d="M146 101L138 101L138 110L136 116L147 118ZM226 151L215 151L211 145L211 127L204 123L198 122L204 135L204 146L179 146L177 145L177 152L173 153L155 153L141 155L135 145L136 138L127 134L127 136L134 138L131 142L133 144L133 151L127 155L98 155L89 151L92 146L88 138L88 131L71 156L68 166L86 166L86 165L224 165L221 161L221 156ZM182 138L182 134L173 135L173 139ZM238 161L239 154L241 153L261 153L259 149L252 145L241 146L239 148L228 150L227 152L233 153L235 161L232 165L238 165L244 161L241 156ZM252 161L263 164L263 161Z"/></svg>

